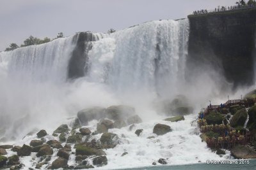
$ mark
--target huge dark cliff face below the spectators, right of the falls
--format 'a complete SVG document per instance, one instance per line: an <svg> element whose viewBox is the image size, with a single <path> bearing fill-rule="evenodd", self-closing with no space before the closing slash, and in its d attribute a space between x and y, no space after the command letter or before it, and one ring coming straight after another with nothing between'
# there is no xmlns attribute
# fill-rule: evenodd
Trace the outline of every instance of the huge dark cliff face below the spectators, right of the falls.
<svg viewBox="0 0 256 170"><path fill-rule="evenodd" d="M234 87L252 85L255 79L256 8L189 15L188 18L188 68L213 67L223 71Z"/></svg>

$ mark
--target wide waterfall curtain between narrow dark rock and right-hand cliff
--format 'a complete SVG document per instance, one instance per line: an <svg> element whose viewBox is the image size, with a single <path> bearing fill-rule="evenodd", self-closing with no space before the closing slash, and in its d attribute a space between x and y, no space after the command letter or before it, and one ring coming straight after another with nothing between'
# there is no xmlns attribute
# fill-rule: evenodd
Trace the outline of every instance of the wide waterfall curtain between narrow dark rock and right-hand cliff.
<svg viewBox="0 0 256 170"><path fill-rule="evenodd" d="M175 91L184 81L188 29L188 20L153 21L95 42L88 54L90 80L108 83L117 92Z"/></svg>

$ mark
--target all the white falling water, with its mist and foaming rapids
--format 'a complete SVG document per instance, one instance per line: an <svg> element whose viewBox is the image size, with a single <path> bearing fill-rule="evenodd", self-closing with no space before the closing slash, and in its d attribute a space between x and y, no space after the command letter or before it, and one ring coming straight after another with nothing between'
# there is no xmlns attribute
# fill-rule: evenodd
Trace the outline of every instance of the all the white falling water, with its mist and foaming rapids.
<svg viewBox="0 0 256 170"><path fill-rule="evenodd" d="M19 145L28 143L31 138L19 139L33 128L51 134L83 108L129 104L144 121L136 129L144 131L137 137L136 129L111 129L122 144L106 150L108 166L103 168L149 166L159 158L168 158L169 164L220 159L198 134L193 134L196 127L191 122L196 111L185 121L170 123L161 121L164 117L153 107L159 99L185 94L199 109L218 91L218 85L206 73L204 81L186 83L188 26L188 20L162 20L105 35L93 42L88 53L88 76L72 82L66 81L74 49L72 37L0 53L0 124L7 129L6 137L15 136ZM147 139L157 123L169 124L173 132ZM95 129L95 125L90 128ZM128 155L120 157L123 152Z"/></svg>

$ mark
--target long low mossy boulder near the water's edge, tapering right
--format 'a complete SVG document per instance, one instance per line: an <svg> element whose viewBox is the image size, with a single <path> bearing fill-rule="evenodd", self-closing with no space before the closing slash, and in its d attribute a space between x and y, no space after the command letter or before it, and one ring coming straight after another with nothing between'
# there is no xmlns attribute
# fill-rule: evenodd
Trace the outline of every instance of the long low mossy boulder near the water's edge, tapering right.
<svg viewBox="0 0 256 170"><path fill-rule="evenodd" d="M86 145L77 145L76 146L76 155L86 155L86 156L91 156L91 155L106 155L105 152L103 152L100 149L92 148L90 146Z"/></svg>

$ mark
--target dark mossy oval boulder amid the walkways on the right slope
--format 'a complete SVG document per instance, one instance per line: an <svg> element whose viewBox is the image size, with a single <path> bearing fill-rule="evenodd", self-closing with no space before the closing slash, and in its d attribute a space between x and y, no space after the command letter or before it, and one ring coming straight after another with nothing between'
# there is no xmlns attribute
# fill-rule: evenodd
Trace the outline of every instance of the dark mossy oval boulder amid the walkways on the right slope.
<svg viewBox="0 0 256 170"><path fill-rule="evenodd" d="M247 111L245 109L238 110L235 115L230 120L230 125L232 127L244 126L244 123L248 117Z"/></svg>

